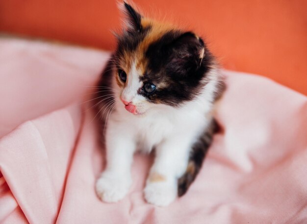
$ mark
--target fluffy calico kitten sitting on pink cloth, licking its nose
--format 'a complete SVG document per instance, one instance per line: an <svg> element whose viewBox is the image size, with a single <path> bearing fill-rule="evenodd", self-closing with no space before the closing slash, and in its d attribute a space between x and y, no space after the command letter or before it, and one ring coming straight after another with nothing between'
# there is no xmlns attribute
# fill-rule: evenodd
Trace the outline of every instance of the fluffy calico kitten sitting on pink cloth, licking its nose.
<svg viewBox="0 0 307 224"><path fill-rule="evenodd" d="M204 41L172 24L121 5L127 25L102 73L98 108L105 126L106 168L96 191L104 202L125 197L136 151L155 150L147 202L165 206L198 174L216 123L212 110L223 90Z"/></svg>

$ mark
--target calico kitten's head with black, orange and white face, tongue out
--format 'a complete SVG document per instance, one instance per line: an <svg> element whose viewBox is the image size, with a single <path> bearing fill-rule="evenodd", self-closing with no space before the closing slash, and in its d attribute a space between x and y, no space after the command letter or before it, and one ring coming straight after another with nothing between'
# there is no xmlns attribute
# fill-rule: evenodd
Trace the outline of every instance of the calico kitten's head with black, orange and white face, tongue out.
<svg viewBox="0 0 307 224"><path fill-rule="evenodd" d="M143 17L121 4L126 26L116 35L113 61L123 107L144 114L161 105L179 107L205 86L213 58L204 41L192 32Z"/></svg>

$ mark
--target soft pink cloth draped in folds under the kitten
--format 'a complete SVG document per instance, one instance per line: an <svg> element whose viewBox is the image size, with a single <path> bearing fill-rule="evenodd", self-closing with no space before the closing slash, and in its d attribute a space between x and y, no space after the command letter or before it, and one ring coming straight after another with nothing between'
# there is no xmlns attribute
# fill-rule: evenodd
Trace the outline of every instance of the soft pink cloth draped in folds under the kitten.
<svg viewBox="0 0 307 224"><path fill-rule="evenodd" d="M137 155L129 195L99 201L103 157L83 102L108 56L0 39L1 223L307 222L307 97L229 71L216 112L222 132L187 194L168 207L147 204L152 159Z"/></svg>

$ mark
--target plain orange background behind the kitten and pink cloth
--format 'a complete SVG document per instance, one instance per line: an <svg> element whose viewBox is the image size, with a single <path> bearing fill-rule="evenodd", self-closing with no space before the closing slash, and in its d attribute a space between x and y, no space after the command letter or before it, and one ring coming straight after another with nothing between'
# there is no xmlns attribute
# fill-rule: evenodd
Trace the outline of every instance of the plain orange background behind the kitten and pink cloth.
<svg viewBox="0 0 307 224"><path fill-rule="evenodd" d="M306 0L134 0L205 37L222 66L307 95ZM0 31L111 50L114 0L0 0Z"/></svg>

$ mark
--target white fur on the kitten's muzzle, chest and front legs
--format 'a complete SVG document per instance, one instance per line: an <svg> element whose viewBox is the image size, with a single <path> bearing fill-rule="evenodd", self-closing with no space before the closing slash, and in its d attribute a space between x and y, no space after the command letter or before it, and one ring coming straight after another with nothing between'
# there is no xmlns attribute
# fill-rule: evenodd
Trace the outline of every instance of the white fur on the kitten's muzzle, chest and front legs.
<svg viewBox="0 0 307 224"><path fill-rule="evenodd" d="M165 206L177 197L177 179L185 172L193 143L210 121L213 92L218 84L218 73L212 69L209 82L202 93L180 108L148 102L137 90L143 85L132 64L127 87L116 96L116 111L107 121L107 167L97 181L96 190L105 202L117 202L128 193L132 178L130 167L136 150L156 150L150 173L158 173L165 180L146 182L145 199L154 205ZM131 101L141 115L127 112L120 97Z"/></svg>

